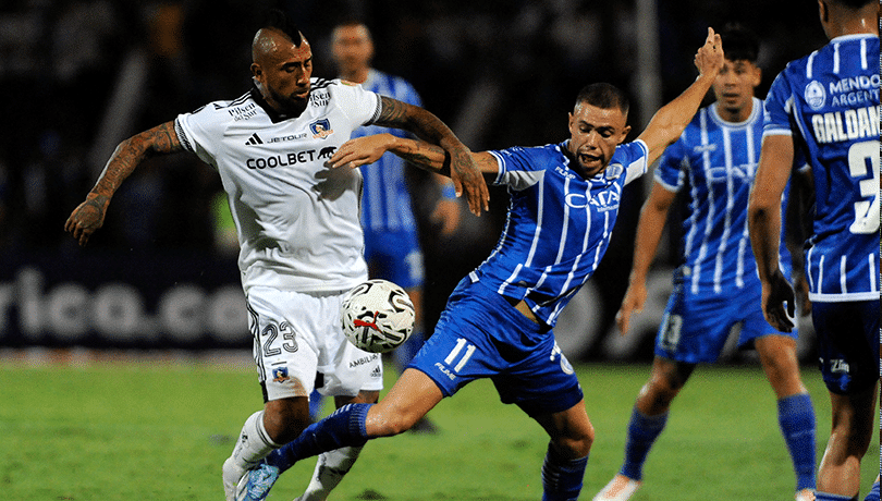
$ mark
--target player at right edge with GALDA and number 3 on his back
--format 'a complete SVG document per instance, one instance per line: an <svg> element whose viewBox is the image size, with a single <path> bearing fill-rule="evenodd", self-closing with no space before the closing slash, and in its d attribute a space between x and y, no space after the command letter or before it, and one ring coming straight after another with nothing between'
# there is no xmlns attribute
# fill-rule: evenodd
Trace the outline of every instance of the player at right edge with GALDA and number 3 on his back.
<svg viewBox="0 0 882 501"><path fill-rule="evenodd" d="M791 61L769 89L748 218L765 317L789 329L793 291L775 250L779 200L794 152L801 150L816 194L806 276L832 413L817 499L853 500L878 412L880 4L819 0L818 5L830 42ZM878 482L874 489L878 499Z"/></svg>

